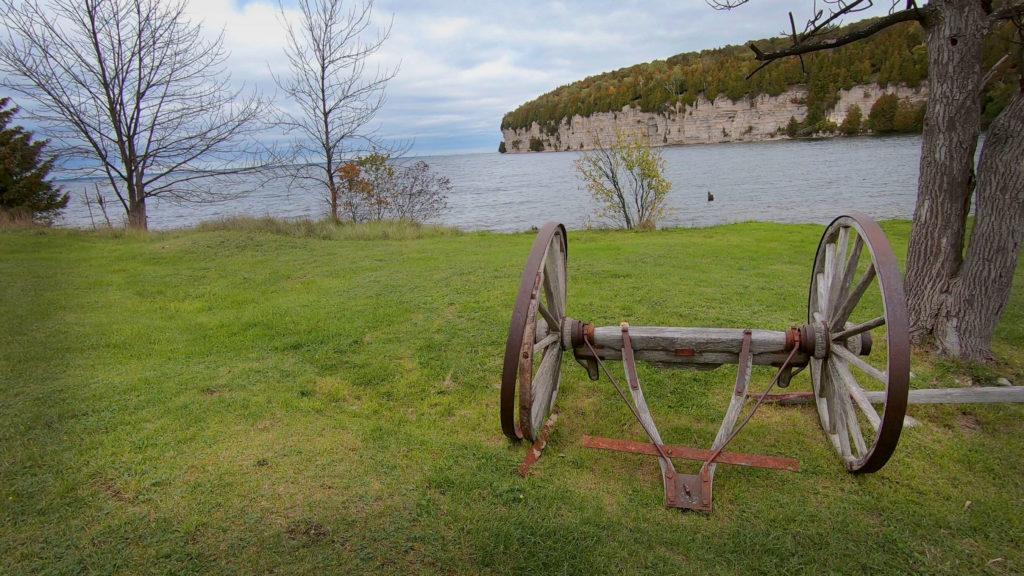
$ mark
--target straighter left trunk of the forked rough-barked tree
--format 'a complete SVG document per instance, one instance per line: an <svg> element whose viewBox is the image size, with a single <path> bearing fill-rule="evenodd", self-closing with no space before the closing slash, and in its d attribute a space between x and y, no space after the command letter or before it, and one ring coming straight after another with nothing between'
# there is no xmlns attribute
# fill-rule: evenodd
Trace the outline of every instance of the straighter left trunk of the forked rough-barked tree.
<svg viewBox="0 0 1024 576"><path fill-rule="evenodd" d="M928 111L906 294L915 342L934 335L963 262L981 131L978 84L987 14L977 0L937 0L924 23L928 42Z"/></svg>

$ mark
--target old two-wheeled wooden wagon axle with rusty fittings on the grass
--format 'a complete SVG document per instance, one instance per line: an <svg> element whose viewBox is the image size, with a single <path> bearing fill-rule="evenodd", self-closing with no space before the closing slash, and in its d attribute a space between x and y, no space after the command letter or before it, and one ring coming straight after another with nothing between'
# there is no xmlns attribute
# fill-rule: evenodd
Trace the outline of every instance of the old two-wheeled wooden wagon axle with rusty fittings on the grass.
<svg viewBox="0 0 1024 576"><path fill-rule="evenodd" d="M564 227L546 224L527 258L513 308L502 374L501 423L513 440L534 443L520 472L541 456L555 424L553 408L564 354L571 351L590 379L603 374L646 436L646 442L584 437L587 448L656 456L666 505L710 511L717 464L798 471L792 458L726 451L765 402L811 403L826 438L851 472L882 468L899 442L909 396L910 344L896 258L879 225L862 214L841 216L825 230L812 268L806 319L788 330L597 327L566 315L567 242ZM621 361L621 384L605 361ZM708 449L667 445L644 399L636 362L709 370L736 365L725 418ZM752 367L777 368L770 385L750 390ZM813 392L772 395L809 369ZM1024 402L1024 388L914 390L924 401L996 399ZM977 393L983 389L985 393ZM931 396L929 396L929 393ZM748 402L748 400L753 402ZM752 406L745 410L748 404ZM700 462L695 475L673 459Z"/></svg>

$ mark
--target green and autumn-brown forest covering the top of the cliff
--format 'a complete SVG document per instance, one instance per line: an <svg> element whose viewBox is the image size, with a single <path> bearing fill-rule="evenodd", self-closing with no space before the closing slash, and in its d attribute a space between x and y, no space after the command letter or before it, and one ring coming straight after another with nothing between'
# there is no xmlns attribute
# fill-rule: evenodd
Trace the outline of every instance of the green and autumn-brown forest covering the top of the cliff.
<svg viewBox="0 0 1024 576"><path fill-rule="evenodd" d="M873 19L851 24L838 33L871 22ZM985 70L1010 51L1012 40L1013 26L1009 23L989 37L983 64ZM766 52L788 43L785 38L756 41ZM532 99L506 114L502 128L527 128L537 122L554 133L563 119L574 115L615 112L626 106L644 112L672 114L677 105L692 105L701 94L710 100L719 95L738 100L743 96L778 95L792 86L804 85L808 115L793 129L809 133L828 128L825 117L838 101L840 89L870 82L916 87L928 77L925 35L915 23L894 26L835 50L805 55L803 70L799 58L786 58L746 80L759 64L748 46L726 46L631 66L560 86ZM1019 71L1011 69L983 91L984 122L991 121L1006 106L1018 74Z"/></svg>

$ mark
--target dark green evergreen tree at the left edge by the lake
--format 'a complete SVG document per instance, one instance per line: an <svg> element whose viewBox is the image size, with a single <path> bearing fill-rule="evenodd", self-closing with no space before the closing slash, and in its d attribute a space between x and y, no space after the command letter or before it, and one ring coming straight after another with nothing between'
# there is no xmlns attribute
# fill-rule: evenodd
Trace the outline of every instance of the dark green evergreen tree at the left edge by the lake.
<svg viewBox="0 0 1024 576"><path fill-rule="evenodd" d="M32 132L8 127L17 110L10 98L0 98L0 212L48 223L69 198L47 179L53 159L43 156L46 140L32 141Z"/></svg>

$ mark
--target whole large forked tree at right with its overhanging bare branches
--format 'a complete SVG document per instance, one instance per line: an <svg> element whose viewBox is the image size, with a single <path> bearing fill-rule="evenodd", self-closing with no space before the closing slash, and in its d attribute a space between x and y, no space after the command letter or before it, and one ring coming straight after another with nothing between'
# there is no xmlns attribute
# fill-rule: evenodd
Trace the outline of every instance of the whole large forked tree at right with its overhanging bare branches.
<svg viewBox="0 0 1024 576"><path fill-rule="evenodd" d="M710 3L729 9L746 1ZM897 1L888 15L853 32L835 33L843 16L871 5L871 0L815 3L802 31L791 12L792 44L764 52L752 43L762 63L752 74L780 58L850 44L899 23L916 22L925 29L928 110L906 261L911 334L916 342L933 342L949 356L987 360L1024 243L1024 1L933 0L925 6ZM986 72L983 41L1007 22L1016 26L1018 41ZM979 94L1008 64L1016 66L1020 85L989 126L976 174ZM969 241L972 200L976 213Z"/></svg>

